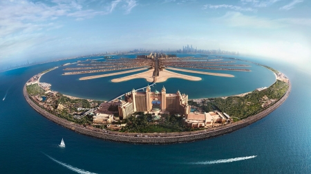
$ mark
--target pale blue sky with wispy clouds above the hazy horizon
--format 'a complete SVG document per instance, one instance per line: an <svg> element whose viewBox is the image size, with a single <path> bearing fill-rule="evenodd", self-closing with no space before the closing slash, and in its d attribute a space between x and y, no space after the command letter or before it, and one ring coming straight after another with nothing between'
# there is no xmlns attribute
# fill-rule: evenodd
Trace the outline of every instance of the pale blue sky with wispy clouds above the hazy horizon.
<svg viewBox="0 0 311 174"><path fill-rule="evenodd" d="M193 45L311 65L310 0L1 0L0 69Z"/></svg>

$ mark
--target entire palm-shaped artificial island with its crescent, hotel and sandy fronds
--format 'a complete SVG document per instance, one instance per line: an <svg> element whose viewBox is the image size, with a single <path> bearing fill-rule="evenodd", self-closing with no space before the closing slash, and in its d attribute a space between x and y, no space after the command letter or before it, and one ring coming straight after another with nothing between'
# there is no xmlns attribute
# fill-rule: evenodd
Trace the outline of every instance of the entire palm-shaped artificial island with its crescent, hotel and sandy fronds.
<svg viewBox="0 0 311 174"><path fill-rule="evenodd" d="M111 59L109 57L104 61L88 59L84 62L78 61L77 67L64 68L63 75L124 70L123 72L85 76L79 80L138 72L130 76L113 78L111 82L119 83L144 78L151 84L140 89L130 89L125 94L109 101L73 98L50 90L48 83L39 82L43 74L59 68L55 67L30 78L23 89L23 94L30 106L41 115L68 129L95 138L142 144L201 140L230 133L260 120L279 107L290 94L290 81L284 74L266 65L250 61L244 62L259 65L274 72L275 83L270 87L258 88L241 95L198 100L188 100L188 95L182 94L179 90L176 90L174 94L167 94L164 86L160 91L151 90L151 87L168 78L201 80L200 77L177 72L220 76L221 78L234 77L232 74L202 72L193 69L250 72L249 69L245 69L249 65L232 64L237 60L243 60L227 59L229 60L223 61L223 57L179 58L176 54L152 52L147 55L137 55L136 58ZM64 66L66 65L68 64Z"/></svg>

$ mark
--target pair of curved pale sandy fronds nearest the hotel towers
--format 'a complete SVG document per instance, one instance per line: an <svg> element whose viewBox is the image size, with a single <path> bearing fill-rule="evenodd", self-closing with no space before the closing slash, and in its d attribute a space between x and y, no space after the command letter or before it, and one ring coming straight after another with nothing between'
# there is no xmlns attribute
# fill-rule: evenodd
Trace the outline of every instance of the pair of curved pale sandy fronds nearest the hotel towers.
<svg viewBox="0 0 311 174"><path fill-rule="evenodd" d="M122 78L115 78L115 79L111 80L111 82L118 83L118 82L123 82L123 81L126 81L126 80L132 80L132 79L135 79L135 78L144 78L148 82L153 82L152 75L153 75L153 69L150 69L147 72L142 72L142 73L139 73L139 74L133 74L131 76L125 76L125 77L122 77ZM185 80L192 80L192 81L202 80L202 78L199 78L199 77L196 77L196 76L188 76L188 75L185 75L185 74L178 74L176 72L170 72L170 71L164 69L163 71L160 71L160 74L159 74L159 76L157 78L157 83L164 82L168 78L182 78L182 79L185 79Z"/></svg>

